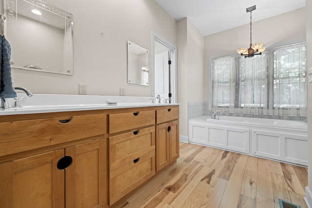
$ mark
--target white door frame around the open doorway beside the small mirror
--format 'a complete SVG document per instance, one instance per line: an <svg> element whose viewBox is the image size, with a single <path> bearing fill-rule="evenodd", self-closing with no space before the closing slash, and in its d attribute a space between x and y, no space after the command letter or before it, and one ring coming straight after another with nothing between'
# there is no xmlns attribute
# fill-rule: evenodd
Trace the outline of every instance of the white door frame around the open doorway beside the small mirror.
<svg viewBox="0 0 312 208"><path fill-rule="evenodd" d="M152 31L152 50L151 50L151 91L152 96L155 97L155 41L162 44L164 47L168 48L169 51L172 53L171 57L171 80L170 80L170 88L171 88L171 103L177 103L177 47L170 41L162 38L157 33Z"/></svg>

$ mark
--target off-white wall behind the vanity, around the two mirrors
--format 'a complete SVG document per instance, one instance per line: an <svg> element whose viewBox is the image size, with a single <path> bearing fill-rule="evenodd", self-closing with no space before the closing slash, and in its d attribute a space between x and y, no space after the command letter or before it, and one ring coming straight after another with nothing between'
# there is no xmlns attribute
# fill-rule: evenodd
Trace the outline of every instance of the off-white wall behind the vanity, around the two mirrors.
<svg viewBox="0 0 312 208"><path fill-rule="evenodd" d="M74 75L12 69L14 86L33 93L78 94L78 83L85 83L90 95L119 95L119 87L125 87L126 95L151 96L151 86L127 83L127 41L150 50L155 31L176 44L176 21L156 1L46 2L74 16Z"/></svg>

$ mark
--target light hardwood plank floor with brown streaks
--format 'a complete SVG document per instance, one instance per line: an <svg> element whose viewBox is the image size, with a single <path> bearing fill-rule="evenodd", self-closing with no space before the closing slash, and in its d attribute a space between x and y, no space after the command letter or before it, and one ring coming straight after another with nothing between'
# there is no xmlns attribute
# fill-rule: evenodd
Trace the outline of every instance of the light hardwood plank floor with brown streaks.
<svg viewBox="0 0 312 208"><path fill-rule="evenodd" d="M180 143L180 157L118 208L300 208L306 168L229 151Z"/></svg>

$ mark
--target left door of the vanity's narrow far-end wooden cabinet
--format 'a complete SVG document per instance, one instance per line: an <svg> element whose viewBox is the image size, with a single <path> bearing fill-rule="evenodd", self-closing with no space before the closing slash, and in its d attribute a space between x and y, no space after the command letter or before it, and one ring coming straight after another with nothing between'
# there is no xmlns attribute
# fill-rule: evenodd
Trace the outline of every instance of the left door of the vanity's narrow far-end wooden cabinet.
<svg viewBox="0 0 312 208"><path fill-rule="evenodd" d="M156 171L170 163L169 123L156 125Z"/></svg>

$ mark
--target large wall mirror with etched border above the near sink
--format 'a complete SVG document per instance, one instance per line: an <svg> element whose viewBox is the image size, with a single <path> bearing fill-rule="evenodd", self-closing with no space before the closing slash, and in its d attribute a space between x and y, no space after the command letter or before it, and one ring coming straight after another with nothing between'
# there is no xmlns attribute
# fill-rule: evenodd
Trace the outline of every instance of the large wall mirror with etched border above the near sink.
<svg viewBox="0 0 312 208"><path fill-rule="evenodd" d="M11 67L73 75L73 15L41 0L3 0Z"/></svg>

